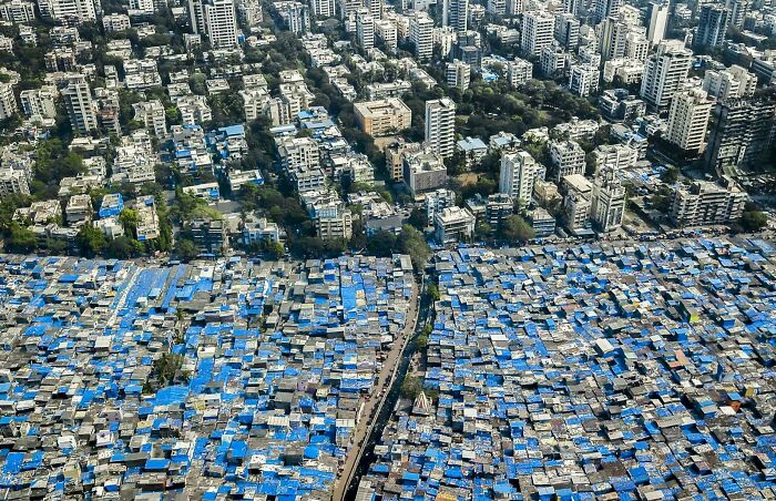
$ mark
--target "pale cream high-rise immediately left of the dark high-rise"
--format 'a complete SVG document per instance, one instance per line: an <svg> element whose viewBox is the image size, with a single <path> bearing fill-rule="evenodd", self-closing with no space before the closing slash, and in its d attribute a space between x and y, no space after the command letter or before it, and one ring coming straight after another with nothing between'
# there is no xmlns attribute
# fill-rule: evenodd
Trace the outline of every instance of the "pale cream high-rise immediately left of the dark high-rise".
<svg viewBox="0 0 776 501"><path fill-rule="evenodd" d="M701 151L713 105L714 98L701 89L674 95L668 113L668 142L686 152Z"/></svg>

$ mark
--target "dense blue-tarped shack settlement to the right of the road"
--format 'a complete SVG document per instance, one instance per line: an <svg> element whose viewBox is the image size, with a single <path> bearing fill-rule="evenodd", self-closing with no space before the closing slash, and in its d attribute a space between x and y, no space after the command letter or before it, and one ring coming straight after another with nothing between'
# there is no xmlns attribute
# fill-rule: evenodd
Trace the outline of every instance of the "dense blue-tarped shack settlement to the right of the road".
<svg viewBox="0 0 776 501"><path fill-rule="evenodd" d="M426 389L358 499L775 499L773 249L438 253Z"/></svg>

